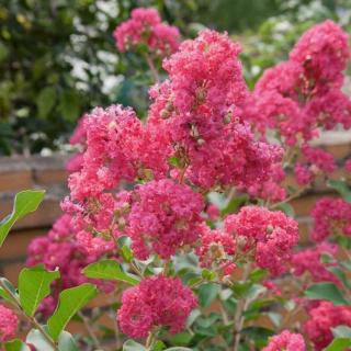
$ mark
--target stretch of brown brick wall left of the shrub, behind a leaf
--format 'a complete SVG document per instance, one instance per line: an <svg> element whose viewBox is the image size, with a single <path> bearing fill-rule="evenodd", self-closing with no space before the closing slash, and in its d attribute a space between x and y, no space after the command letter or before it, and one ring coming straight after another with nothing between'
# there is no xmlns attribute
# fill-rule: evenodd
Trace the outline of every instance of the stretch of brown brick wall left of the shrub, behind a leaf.
<svg viewBox="0 0 351 351"><path fill-rule="evenodd" d="M45 189L45 200L38 211L18 222L0 249L0 275L16 283L25 260L26 247L36 236L45 235L59 216L59 201L67 194L65 157L1 158L0 218L11 213L13 197L25 189Z"/></svg>

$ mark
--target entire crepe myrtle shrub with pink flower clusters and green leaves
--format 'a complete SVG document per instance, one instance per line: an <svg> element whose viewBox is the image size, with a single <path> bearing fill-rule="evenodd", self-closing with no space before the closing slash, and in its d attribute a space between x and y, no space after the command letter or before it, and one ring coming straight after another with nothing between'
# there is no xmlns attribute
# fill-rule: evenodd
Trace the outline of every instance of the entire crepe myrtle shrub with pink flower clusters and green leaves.
<svg viewBox="0 0 351 351"><path fill-rule="evenodd" d="M314 143L351 126L347 34L315 25L253 91L226 33L181 42L137 9L114 37L150 67L147 118L118 104L82 116L65 214L31 242L18 287L0 280L1 348L351 349L350 160ZM339 196L316 202L306 246L288 202L316 182ZM18 194L1 244L43 197Z"/></svg>

